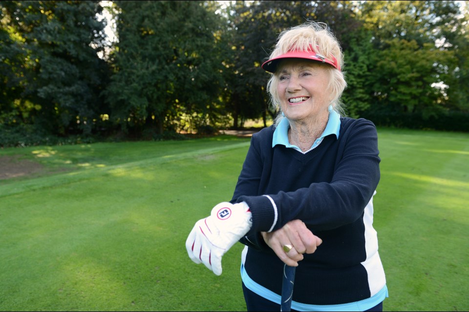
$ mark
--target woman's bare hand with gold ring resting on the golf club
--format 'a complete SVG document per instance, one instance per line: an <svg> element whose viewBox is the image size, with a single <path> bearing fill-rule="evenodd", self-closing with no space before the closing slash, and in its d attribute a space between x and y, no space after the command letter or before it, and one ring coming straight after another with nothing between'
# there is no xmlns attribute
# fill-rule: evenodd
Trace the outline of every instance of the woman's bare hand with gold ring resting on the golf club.
<svg viewBox="0 0 469 312"><path fill-rule="evenodd" d="M291 267L297 267L298 261L303 260L304 253L314 253L322 243L322 240L301 220L292 220L275 232L261 232L261 234L278 258ZM292 246L291 250L286 252L283 248L285 245Z"/></svg>

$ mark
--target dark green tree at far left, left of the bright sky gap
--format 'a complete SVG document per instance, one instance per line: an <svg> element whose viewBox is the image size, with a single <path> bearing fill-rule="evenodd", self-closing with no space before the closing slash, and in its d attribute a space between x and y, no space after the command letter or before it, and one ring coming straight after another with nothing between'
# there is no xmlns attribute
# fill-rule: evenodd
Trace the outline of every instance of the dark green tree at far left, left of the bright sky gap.
<svg viewBox="0 0 469 312"><path fill-rule="evenodd" d="M90 133L103 109L99 95L107 76L107 64L97 56L105 38L99 1L0 5L6 43L0 55L16 72L2 86L10 105L15 103L23 122L48 133Z"/></svg>

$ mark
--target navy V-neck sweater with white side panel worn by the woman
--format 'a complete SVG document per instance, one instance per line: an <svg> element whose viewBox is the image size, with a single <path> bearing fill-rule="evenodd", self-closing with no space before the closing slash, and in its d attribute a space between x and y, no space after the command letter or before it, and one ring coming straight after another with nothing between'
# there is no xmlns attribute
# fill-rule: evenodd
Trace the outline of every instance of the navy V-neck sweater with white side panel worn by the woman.
<svg viewBox="0 0 469 312"><path fill-rule="evenodd" d="M232 199L245 201L253 214L253 226L240 240L249 247L246 272L280 294L283 262L260 232L300 219L323 242L298 262L293 300L331 305L369 298L385 284L368 205L380 180L374 124L341 117L339 138L324 137L306 154L272 147L274 130L253 135ZM370 267L363 264L370 261ZM370 285L373 274L376 285Z"/></svg>

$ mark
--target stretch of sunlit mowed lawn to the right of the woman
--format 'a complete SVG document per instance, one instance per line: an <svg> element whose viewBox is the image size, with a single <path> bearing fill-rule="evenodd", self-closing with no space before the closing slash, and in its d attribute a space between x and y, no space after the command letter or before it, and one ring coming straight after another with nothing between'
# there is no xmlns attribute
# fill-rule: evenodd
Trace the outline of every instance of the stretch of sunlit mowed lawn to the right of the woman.
<svg viewBox="0 0 469 312"><path fill-rule="evenodd" d="M469 299L469 136L380 132L375 227L385 311L465 311Z"/></svg>

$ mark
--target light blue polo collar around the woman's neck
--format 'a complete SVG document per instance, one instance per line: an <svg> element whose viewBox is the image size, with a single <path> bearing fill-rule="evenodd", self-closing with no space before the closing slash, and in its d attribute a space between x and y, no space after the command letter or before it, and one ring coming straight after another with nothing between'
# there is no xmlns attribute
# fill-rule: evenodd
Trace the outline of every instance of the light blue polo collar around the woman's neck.
<svg viewBox="0 0 469 312"><path fill-rule="evenodd" d="M277 128L274 131L274 137L272 139L272 147L276 146L277 144L285 145L285 147L291 147L297 150L300 150L298 146L291 145L288 141L288 129L290 128L290 123L288 122L287 118L283 118L280 120ZM332 111L329 113L329 120L327 120L326 128L322 135L314 142L311 149L315 148L319 145L322 139L329 135L336 135L339 138L339 132L341 130L341 117L337 114L336 111ZM310 149L310 150L311 150Z"/></svg>

